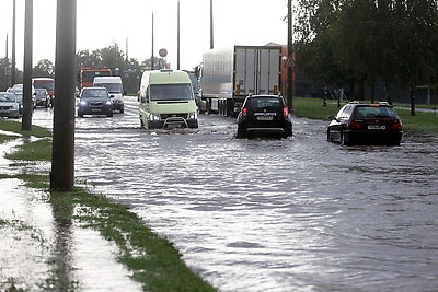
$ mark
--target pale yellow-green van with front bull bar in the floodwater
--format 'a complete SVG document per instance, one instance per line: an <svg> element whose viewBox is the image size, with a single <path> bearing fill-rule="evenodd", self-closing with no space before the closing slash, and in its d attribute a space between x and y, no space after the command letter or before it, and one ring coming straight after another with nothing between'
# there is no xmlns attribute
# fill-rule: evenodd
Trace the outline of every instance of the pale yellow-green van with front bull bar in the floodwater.
<svg viewBox="0 0 438 292"><path fill-rule="evenodd" d="M186 72L170 69L145 71L138 100L143 128L198 127L195 96Z"/></svg>

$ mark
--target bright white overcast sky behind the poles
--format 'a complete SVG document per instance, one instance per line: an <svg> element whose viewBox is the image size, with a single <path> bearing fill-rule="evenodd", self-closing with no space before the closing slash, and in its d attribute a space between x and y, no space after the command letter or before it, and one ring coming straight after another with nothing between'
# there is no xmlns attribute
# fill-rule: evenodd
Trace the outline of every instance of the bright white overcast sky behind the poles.
<svg viewBox="0 0 438 292"><path fill-rule="evenodd" d="M0 0L0 57L12 57L12 3ZM55 62L57 0L33 0L33 63ZM77 0L77 48L90 52L117 44L139 62L168 50L168 62L176 69L177 0ZM23 68L25 0L16 0L16 67ZM210 1L180 0L180 67L191 70L210 48ZM287 44L287 0L214 0L215 48L233 45Z"/></svg>

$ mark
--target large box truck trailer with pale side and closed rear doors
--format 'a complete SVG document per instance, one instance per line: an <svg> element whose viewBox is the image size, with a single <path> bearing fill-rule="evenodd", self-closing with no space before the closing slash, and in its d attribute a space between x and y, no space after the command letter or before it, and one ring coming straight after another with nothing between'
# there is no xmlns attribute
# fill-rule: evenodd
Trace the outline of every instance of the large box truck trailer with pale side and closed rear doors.
<svg viewBox="0 0 438 292"><path fill-rule="evenodd" d="M252 94L278 95L280 46L233 46L204 54L199 110L237 116Z"/></svg>

